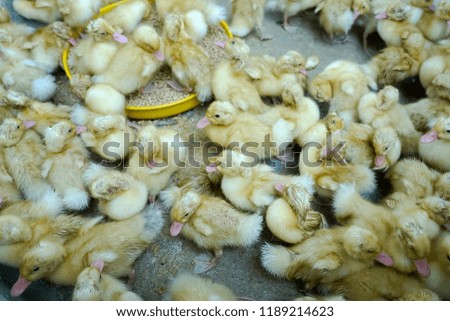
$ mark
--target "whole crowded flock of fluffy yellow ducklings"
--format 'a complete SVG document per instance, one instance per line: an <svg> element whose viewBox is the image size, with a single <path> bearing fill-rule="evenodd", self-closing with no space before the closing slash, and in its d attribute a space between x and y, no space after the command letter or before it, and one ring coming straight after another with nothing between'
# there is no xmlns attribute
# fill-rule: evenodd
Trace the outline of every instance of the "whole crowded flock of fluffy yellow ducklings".
<svg viewBox="0 0 450 321"><path fill-rule="evenodd" d="M198 42L226 13L211 1L130 0L94 18L111 2L14 0L21 15L48 23L36 30L1 8L0 263L19 269L12 296L44 279L73 286L74 300L140 300L121 278L132 278L158 237L164 207L173 237L214 254L197 273L218 264L225 247L254 245L267 227L279 242L262 247L261 264L303 281L311 295L299 300L450 298L450 1L267 1L290 32L289 16L316 8L331 40L363 22L365 36L377 30L388 46L312 79L318 57L256 56L237 37L212 66ZM232 31L267 39L265 2L232 1ZM151 10L160 32L140 24ZM330 19L339 12L350 12L350 25ZM83 104L56 105L52 73L69 43ZM164 146L179 133L136 126L124 113L125 95L164 63L199 100L214 97L197 128L222 147L176 184L188 148ZM408 77L419 77L428 97L402 105L395 85ZM323 118L317 102L329 104ZM301 148L298 175L263 163L291 159L292 145ZM392 191L374 203L377 172ZM315 197L331 204L338 224L314 210ZM93 199L98 215L77 214ZM176 277L168 298L237 299L192 274Z"/></svg>

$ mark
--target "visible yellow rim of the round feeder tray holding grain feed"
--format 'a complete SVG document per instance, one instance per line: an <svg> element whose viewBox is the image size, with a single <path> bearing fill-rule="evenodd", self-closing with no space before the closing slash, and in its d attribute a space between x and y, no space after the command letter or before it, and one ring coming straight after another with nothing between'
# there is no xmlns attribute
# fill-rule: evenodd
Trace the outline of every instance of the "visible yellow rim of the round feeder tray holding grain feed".
<svg viewBox="0 0 450 321"><path fill-rule="evenodd" d="M96 17L100 17L118 5L121 5L122 3L128 2L129 0L122 0L119 2L112 3L108 6L105 6L100 9L99 14ZM228 38L233 38L233 34L230 31L230 28L228 27L228 24L226 21L222 20L220 21L220 26L225 31L225 34ZM69 49L64 50L62 54L62 65L64 72L66 73L67 78L72 79L72 73L70 72L69 65L67 63L69 58ZM126 106L125 107L125 113L128 118L131 119L158 119L158 118L165 118L165 117L171 117L178 114L181 114L185 111L188 111L200 104L200 101L197 99L196 94L192 94L187 96L186 98L183 98L181 100L177 100L168 104L164 105L157 105L157 106Z"/></svg>

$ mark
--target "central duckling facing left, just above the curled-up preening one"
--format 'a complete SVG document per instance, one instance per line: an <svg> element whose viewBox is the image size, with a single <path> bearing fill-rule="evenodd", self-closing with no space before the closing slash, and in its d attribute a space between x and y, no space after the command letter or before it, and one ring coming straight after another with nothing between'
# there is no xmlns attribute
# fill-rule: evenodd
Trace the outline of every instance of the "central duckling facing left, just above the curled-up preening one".
<svg viewBox="0 0 450 321"><path fill-rule="evenodd" d="M236 150L224 150L217 158L219 166L210 168L222 174L221 189L237 208L256 211L272 204L277 195L277 184L295 184L314 192L307 175L286 176L274 172L265 164L258 164L251 156Z"/></svg>

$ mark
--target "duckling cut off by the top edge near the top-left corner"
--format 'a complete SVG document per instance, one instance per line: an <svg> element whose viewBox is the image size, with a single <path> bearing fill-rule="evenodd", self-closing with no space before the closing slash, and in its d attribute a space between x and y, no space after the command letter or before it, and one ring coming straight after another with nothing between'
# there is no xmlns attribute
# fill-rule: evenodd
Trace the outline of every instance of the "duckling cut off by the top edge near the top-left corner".
<svg viewBox="0 0 450 321"><path fill-rule="evenodd" d="M22 17L43 23L61 20L57 0L13 0L14 10Z"/></svg>

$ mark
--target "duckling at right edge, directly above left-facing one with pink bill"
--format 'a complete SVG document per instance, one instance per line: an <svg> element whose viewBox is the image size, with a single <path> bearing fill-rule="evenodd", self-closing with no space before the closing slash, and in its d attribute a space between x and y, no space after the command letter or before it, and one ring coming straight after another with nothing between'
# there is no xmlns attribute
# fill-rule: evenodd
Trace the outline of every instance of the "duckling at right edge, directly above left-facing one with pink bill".
<svg viewBox="0 0 450 321"><path fill-rule="evenodd" d="M424 98L404 105L416 130L426 133L439 119L450 115L448 101L442 98Z"/></svg>

